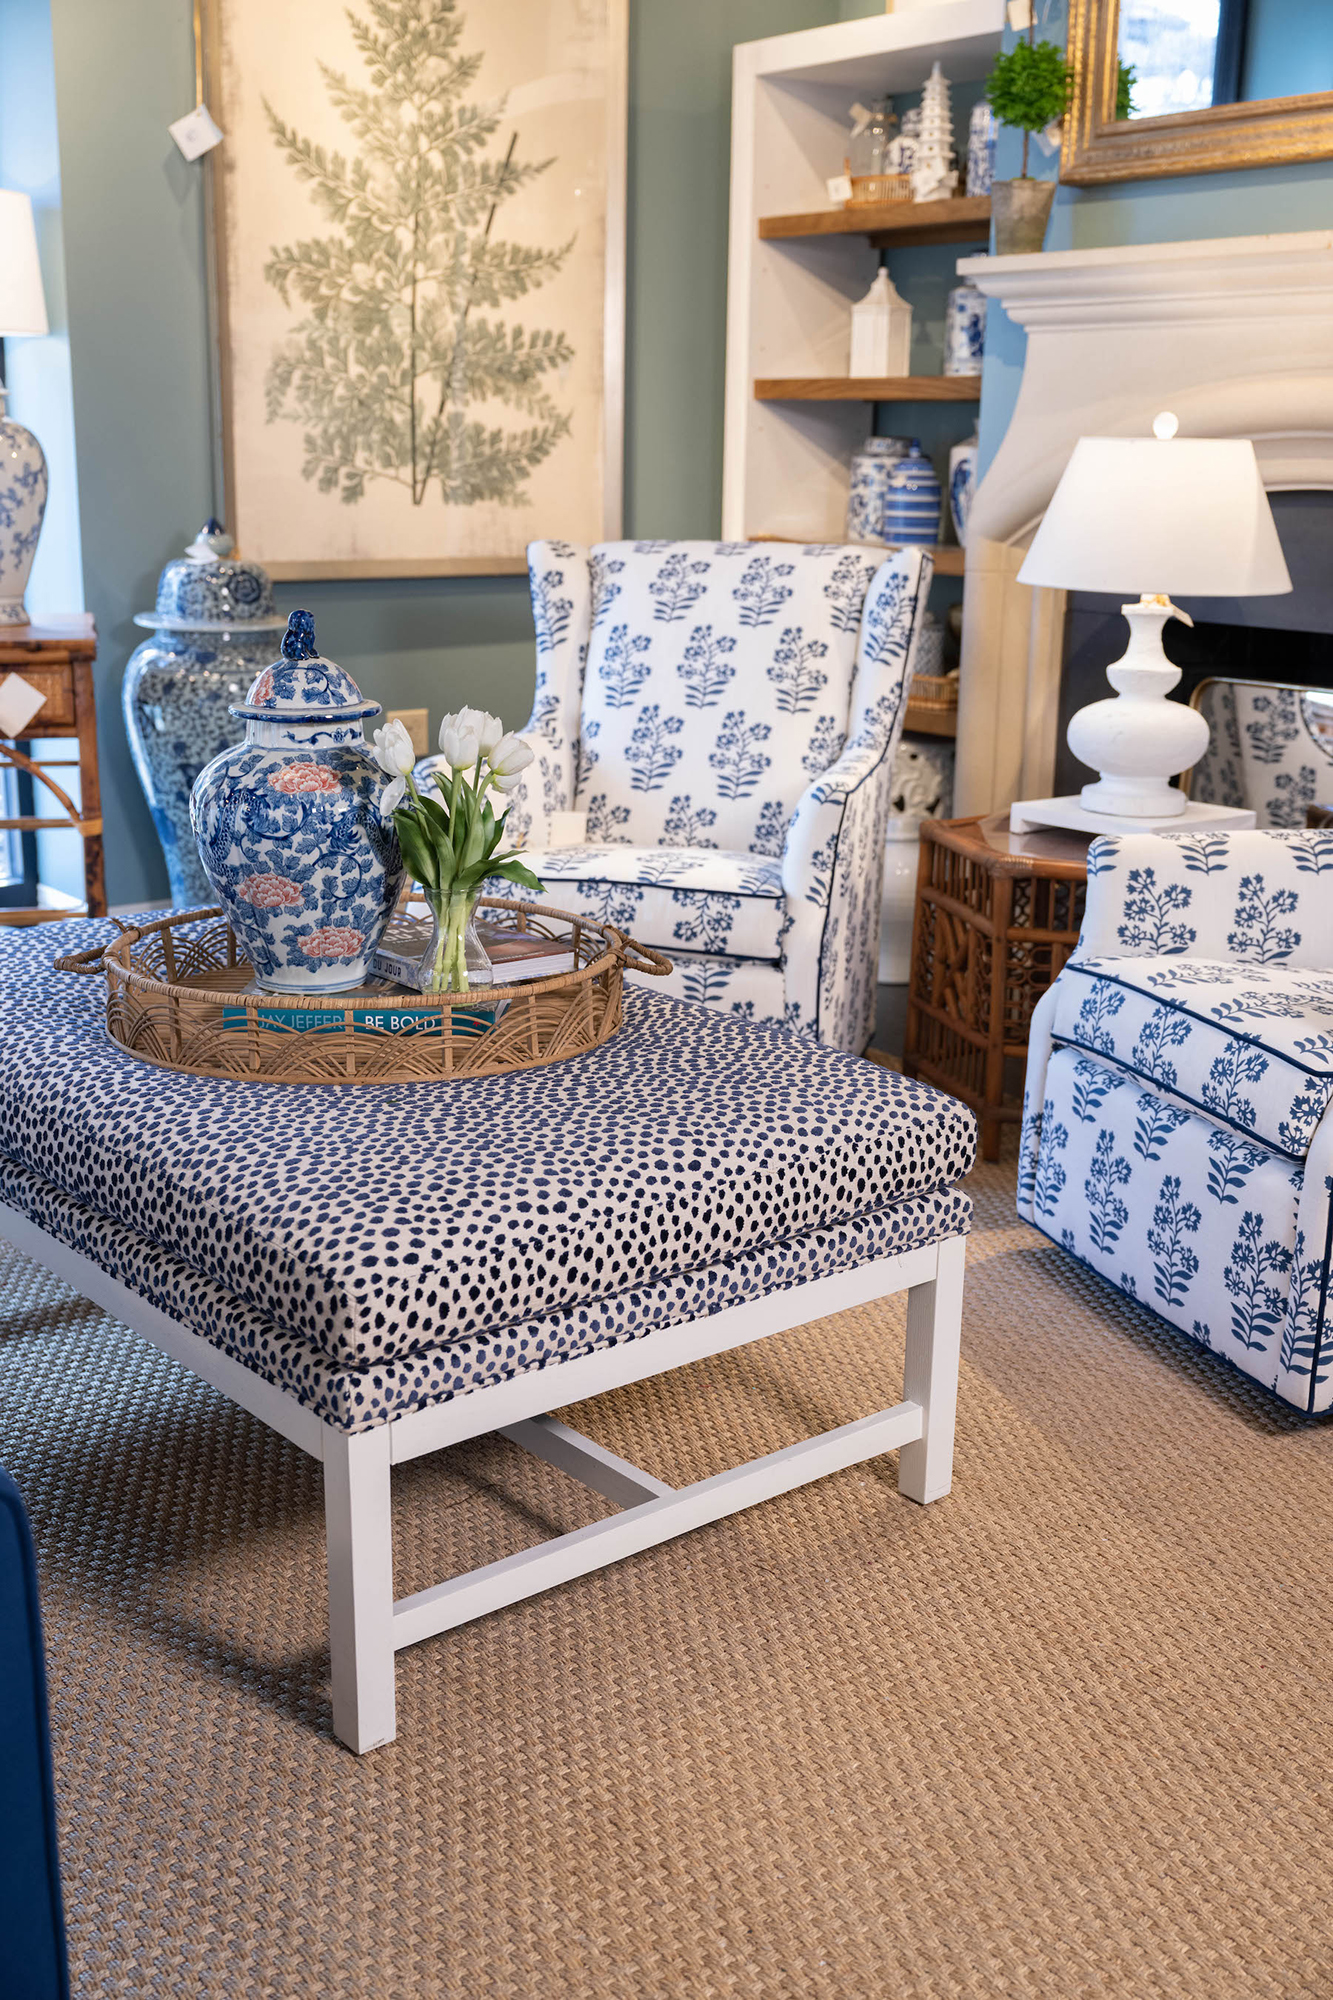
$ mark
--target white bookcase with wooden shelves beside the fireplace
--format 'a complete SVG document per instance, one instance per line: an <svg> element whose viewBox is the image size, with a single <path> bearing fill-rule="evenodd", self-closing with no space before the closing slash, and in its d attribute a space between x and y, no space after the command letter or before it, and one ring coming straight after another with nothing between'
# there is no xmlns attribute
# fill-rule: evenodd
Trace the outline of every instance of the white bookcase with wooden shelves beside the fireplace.
<svg viewBox="0 0 1333 2000"><path fill-rule="evenodd" d="M741 42L733 58L731 250L723 536L839 542L849 460L873 430L877 400L953 400L933 378L849 384L849 308L879 264L867 222L829 202L853 100L921 90L939 58L951 82L977 82L1001 46L1003 0L923 0L893 14ZM953 204L951 204L953 206ZM983 244L987 222L937 224L901 240ZM761 240L761 220L801 232ZM849 220L857 222L849 228ZM887 220L887 212L885 212ZM771 224L773 226L773 224ZM969 228L973 230L969 238ZM899 232L901 234L901 232ZM893 240L893 232L881 240ZM757 396L755 384L765 384ZM775 394L791 388L791 394ZM873 394L893 388L891 398ZM905 394L901 394L905 392ZM819 400L817 400L819 398ZM961 406L965 408L965 406ZM965 434L965 424L959 434ZM959 550L947 552L959 568Z"/></svg>

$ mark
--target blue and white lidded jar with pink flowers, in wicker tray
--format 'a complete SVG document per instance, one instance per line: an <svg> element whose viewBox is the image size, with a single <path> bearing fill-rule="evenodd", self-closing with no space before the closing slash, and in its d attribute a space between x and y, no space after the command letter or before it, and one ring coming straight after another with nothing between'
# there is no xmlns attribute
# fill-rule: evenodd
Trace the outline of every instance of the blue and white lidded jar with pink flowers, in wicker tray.
<svg viewBox="0 0 1333 2000"><path fill-rule="evenodd" d="M198 774L190 820L236 942L266 992L362 986L402 886L362 732L380 704L320 658L310 612L292 612L282 658L232 714L246 740Z"/></svg>

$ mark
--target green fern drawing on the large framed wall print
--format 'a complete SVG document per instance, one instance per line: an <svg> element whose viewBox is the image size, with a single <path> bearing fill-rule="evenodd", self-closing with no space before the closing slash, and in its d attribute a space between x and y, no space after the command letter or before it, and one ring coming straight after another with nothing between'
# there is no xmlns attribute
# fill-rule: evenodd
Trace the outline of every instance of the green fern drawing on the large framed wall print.
<svg viewBox="0 0 1333 2000"><path fill-rule="evenodd" d="M458 0L368 0L346 18L370 88L320 72L360 152L328 152L264 102L278 152L334 222L264 264L282 304L306 308L272 354L268 422L300 424L302 478L346 504L384 480L414 506L432 490L444 506L520 506L568 434L546 380L574 350L504 308L556 276L572 238L528 248L494 220L550 162L518 160L516 132L498 150L502 96L466 102L482 56L460 46ZM496 406L526 422L496 424Z"/></svg>

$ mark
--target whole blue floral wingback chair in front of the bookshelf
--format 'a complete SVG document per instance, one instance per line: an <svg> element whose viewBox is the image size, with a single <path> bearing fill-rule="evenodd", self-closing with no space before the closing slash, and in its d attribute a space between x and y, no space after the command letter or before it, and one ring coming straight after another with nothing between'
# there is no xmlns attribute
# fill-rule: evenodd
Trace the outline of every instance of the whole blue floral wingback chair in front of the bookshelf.
<svg viewBox="0 0 1333 2000"><path fill-rule="evenodd" d="M536 762L510 826L550 902L664 950L687 998L865 1048L929 554L534 542L528 570ZM548 850L568 810L588 846Z"/></svg>

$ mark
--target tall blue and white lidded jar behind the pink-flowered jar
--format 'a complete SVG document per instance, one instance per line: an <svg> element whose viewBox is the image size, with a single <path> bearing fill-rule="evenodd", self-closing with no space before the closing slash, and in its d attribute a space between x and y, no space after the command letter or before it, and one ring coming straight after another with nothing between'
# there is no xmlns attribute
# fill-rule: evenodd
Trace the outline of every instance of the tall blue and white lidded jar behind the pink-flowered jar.
<svg viewBox="0 0 1333 2000"><path fill-rule="evenodd" d="M156 610L134 624L154 636L130 654L120 688L138 782L170 878L172 902L196 908L212 890L190 830L190 788L204 764L240 742L232 702L272 660L278 616L258 562L228 560L232 538L204 522L158 578Z"/></svg>

